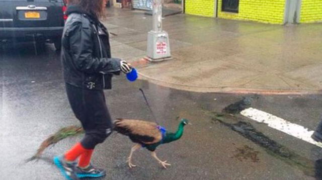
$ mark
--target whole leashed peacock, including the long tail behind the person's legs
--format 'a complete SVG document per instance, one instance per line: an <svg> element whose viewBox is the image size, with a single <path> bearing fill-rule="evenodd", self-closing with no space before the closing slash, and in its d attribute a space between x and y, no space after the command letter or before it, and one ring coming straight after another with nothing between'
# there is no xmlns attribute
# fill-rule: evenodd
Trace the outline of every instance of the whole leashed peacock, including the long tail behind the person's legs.
<svg viewBox="0 0 322 180"><path fill-rule="evenodd" d="M130 168L136 167L132 163L132 154L135 150L145 147L152 152L152 156L162 164L163 167L167 168L167 161L160 160L155 153L155 149L160 144L169 143L176 141L181 138L184 130L184 126L190 124L188 120L182 119L176 133L168 132L165 128L159 126L156 123L144 121L144 120L133 120L133 119L117 119L114 121L114 130L120 134L128 136L134 143L136 143L130 152L130 156L127 159ZM82 127L79 126L68 126L60 129L55 134L49 136L45 141L41 143L35 155L27 159L27 162L35 159L39 159L44 150L50 145L54 145L57 142L78 134L84 133Z"/></svg>

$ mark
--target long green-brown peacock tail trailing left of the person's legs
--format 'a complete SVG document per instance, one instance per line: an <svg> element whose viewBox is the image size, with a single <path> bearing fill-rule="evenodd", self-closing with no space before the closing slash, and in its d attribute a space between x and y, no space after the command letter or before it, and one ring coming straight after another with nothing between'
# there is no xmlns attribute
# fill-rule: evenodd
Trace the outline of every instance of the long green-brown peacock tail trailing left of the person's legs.
<svg viewBox="0 0 322 180"><path fill-rule="evenodd" d="M38 159L41 156L41 154L43 153L43 151L47 147L49 147L50 145L54 145L57 142L65 139L67 137L76 136L76 135L83 134L83 133L84 133L84 129L81 126L68 126L65 128L61 128L55 134L52 134L46 140L44 140L41 143L41 145L39 146L35 155L33 155L31 158L27 159L26 161L29 162L29 161Z"/></svg>

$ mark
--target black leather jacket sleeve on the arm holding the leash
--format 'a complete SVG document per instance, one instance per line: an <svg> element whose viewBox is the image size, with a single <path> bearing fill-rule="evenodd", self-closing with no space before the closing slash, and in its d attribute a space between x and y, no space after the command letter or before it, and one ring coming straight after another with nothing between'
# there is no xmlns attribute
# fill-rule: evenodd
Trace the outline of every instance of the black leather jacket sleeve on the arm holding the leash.
<svg viewBox="0 0 322 180"><path fill-rule="evenodd" d="M86 73L109 73L119 74L119 58L99 58L93 56L93 36L90 27L83 27L82 22L72 25L69 33L69 47L72 61L79 71Z"/></svg>

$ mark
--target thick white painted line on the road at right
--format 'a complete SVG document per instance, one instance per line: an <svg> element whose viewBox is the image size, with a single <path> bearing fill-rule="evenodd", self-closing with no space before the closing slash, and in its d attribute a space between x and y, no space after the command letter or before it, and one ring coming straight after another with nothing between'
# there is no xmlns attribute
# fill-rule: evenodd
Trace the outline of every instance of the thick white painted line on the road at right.
<svg viewBox="0 0 322 180"><path fill-rule="evenodd" d="M311 138L314 131L310 131L303 126L290 123L282 118L254 108L245 109L241 111L240 114L254 121L265 123L271 128L282 131L303 141L322 147L322 143L316 142Z"/></svg>

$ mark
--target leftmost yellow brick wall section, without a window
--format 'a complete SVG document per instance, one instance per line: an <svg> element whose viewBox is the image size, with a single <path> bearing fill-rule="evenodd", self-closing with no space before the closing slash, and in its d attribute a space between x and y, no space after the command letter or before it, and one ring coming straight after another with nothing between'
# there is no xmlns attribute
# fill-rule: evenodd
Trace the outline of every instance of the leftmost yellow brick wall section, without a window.
<svg viewBox="0 0 322 180"><path fill-rule="evenodd" d="M185 13L205 17L214 17L214 0L186 0Z"/></svg>

